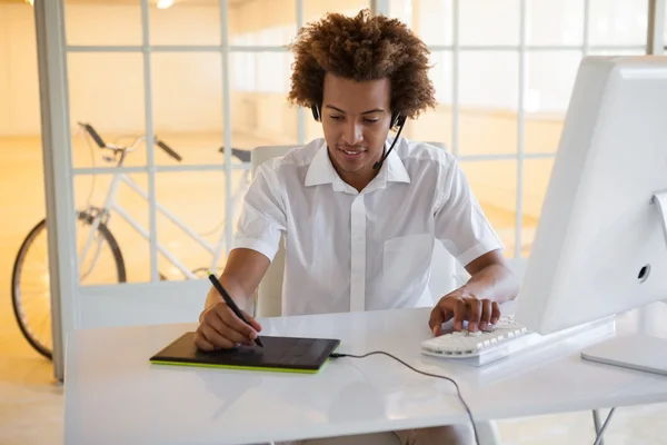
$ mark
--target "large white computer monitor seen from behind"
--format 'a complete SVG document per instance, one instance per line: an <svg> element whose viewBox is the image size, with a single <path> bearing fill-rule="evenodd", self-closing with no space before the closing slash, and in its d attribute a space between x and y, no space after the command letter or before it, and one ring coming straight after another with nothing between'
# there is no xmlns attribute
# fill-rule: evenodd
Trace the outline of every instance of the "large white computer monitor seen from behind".
<svg viewBox="0 0 667 445"><path fill-rule="evenodd" d="M666 300L666 218L667 57L587 57L517 322L546 335ZM660 346L667 356L667 340Z"/></svg>

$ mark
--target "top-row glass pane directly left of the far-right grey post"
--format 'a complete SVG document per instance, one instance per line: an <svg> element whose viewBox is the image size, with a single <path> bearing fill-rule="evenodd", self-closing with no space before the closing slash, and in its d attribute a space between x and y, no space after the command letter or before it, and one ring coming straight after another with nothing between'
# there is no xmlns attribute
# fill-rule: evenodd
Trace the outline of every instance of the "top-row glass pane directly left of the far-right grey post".
<svg viewBox="0 0 667 445"><path fill-rule="evenodd" d="M645 44L648 1L590 0L590 44Z"/></svg>

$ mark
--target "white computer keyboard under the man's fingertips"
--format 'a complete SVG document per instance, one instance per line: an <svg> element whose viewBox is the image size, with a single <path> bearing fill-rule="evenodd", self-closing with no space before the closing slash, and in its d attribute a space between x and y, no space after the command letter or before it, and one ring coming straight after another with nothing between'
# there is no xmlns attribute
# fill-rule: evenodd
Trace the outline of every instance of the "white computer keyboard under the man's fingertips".
<svg viewBox="0 0 667 445"><path fill-rule="evenodd" d="M451 358L475 357L529 334L529 330L509 317L501 317L486 330L452 332L421 343L421 350L429 355Z"/></svg>

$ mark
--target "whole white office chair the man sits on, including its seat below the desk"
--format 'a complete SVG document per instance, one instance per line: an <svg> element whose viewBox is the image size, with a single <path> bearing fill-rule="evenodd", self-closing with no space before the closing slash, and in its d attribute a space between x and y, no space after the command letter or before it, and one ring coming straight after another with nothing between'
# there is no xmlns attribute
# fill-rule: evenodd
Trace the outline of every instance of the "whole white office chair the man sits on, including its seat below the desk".
<svg viewBox="0 0 667 445"><path fill-rule="evenodd" d="M432 144L445 148L441 144ZM297 146L262 146L252 150L251 172L255 177L257 168L269 159L281 157L290 149ZM282 315L282 275L285 269L285 240L280 240L280 247L276 257L267 269L266 275L260 281L253 305L255 317L279 317ZM431 274L429 288L431 295L446 295L458 287L456 274L456 260L447 253L441 243L436 243L434 248L434 265L437 266L435 274ZM435 301L434 301L435 303ZM477 422L477 432L481 445L500 445L500 437L494 422ZM308 441L306 442L306 445ZM331 437L317 439L317 445L400 445L398 437L391 432L374 433L356 436Z"/></svg>

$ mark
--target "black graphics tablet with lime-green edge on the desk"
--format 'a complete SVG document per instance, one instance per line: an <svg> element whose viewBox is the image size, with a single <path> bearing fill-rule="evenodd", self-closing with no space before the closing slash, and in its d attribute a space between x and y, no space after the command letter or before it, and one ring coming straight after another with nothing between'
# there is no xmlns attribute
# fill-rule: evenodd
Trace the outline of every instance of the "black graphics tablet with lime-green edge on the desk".
<svg viewBox="0 0 667 445"><path fill-rule="evenodd" d="M221 367L289 373L318 373L329 360L329 354L340 345L330 338L300 338L261 336L263 348L239 346L236 349L200 350L195 333L189 332L150 357L161 365Z"/></svg>

